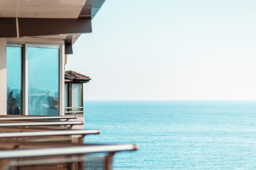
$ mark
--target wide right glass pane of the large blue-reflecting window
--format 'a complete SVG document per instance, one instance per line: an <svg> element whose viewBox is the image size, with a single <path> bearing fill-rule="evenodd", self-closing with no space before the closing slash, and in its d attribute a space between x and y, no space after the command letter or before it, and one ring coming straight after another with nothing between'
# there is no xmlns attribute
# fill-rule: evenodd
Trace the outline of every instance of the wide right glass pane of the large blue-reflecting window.
<svg viewBox="0 0 256 170"><path fill-rule="evenodd" d="M59 115L59 49L28 47L28 115Z"/></svg>

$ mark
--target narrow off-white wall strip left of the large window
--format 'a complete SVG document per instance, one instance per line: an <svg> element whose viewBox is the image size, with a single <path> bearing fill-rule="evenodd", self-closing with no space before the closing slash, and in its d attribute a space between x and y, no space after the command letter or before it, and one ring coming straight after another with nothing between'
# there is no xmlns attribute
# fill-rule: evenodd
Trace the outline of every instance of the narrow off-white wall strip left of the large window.
<svg viewBox="0 0 256 170"><path fill-rule="evenodd" d="M7 114L6 44L7 40L0 38L0 115Z"/></svg>

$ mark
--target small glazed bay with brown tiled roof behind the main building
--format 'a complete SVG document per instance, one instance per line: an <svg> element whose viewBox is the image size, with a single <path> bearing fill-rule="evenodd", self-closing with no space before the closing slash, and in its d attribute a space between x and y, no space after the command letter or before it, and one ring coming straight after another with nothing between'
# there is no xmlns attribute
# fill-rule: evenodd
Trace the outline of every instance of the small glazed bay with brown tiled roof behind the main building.
<svg viewBox="0 0 256 170"><path fill-rule="evenodd" d="M83 114L83 83L90 80L74 71L65 72L65 114Z"/></svg>

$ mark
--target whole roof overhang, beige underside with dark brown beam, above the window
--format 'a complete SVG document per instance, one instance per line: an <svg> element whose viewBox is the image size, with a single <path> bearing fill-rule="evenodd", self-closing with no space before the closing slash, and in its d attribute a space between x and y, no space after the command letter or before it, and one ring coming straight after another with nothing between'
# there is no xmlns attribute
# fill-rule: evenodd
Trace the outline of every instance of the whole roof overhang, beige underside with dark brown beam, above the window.
<svg viewBox="0 0 256 170"><path fill-rule="evenodd" d="M0 0L0 38L65 38L74 44L91 32L105 0Z"/></svg>

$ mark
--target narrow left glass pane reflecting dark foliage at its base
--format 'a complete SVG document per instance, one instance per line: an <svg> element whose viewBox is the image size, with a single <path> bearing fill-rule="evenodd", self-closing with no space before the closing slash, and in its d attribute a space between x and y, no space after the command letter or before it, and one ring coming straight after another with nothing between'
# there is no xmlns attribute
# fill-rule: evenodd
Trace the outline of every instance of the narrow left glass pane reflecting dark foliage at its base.
<svg viewBox="0 0 256 170"><path fill-rule="evenodd" d="M7 115L21 114L22 47L7 46Z"/></svg>

